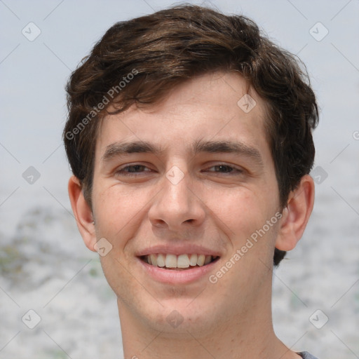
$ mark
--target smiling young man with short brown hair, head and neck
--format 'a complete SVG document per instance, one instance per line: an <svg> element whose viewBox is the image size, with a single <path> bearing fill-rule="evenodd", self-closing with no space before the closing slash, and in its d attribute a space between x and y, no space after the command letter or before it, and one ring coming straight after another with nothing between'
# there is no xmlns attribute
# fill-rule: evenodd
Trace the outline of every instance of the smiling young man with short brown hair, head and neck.
<svg viewBox="0 0 359 359"><path fill-rule="evenodd" d="M69 197L125 358L313 358L271 319L314 198L318 109L294 57L247 18L177 6L111 27L67 93Z"/></svg>

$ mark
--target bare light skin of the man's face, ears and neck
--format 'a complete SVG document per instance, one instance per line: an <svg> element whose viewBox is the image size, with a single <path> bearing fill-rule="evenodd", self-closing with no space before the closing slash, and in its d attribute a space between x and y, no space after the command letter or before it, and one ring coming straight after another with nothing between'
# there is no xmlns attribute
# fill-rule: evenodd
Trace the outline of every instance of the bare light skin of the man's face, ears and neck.
<svg viewBox="0 0 359 359"><path fill-rule="evenodd" d="M245 93L257 102L248 113L237 104ZM279 211L264 121L264 100L233 73L199 76L158 104L133 105L102 121L93 208L76 177L69 180L69 196L88 248L95 250L100 238L113 246L100 259L118 297L125 358L299 358L273 332L271 286L274 248L292 250L311 214L309 175L290 194L283 217L215 284L207 275L187 285L160 283L136 257L151 245L195 243L219 252L209 274L216 273ZM199 140L241 142L262 161L248 154L191 153ZM104 161L109 145L125 141L150 142L163 151ZM136 164L144 167L126 175L123 168ZM177 184L166 177L172 166L184 175ZM174 310L183 318L177 327L166 320Z"/></svg>

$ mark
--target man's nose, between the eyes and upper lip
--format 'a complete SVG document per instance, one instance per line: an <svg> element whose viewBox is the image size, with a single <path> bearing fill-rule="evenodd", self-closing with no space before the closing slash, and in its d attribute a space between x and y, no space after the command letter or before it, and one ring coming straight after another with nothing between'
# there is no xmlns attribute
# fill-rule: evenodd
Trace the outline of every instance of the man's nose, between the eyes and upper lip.
<svg viewBox="0 0 359 359"><path fill-rule="evenodd" d="M160 184L162 189L148 212L153 226L170 231L201 226L205 219L205 204L190 182L188 172L184 174L176 167L163 176Z"/></svg>

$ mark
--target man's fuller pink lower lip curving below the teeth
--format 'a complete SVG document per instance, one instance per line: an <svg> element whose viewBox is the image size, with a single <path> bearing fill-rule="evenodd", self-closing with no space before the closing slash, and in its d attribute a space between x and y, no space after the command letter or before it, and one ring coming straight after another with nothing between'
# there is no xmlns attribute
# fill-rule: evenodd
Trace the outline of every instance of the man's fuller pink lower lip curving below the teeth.
<svg viewBox="0 0 359 359"><path fill-rule="evenodd" d="M194 268L176 271L175 269L163 269L158 266L152 266L138 258L149 276L158 282L168 284L186 284L199 280L212 271L213 267L218 262L218 259L219 258L215 259L205 266L196 266Z"/></svg>

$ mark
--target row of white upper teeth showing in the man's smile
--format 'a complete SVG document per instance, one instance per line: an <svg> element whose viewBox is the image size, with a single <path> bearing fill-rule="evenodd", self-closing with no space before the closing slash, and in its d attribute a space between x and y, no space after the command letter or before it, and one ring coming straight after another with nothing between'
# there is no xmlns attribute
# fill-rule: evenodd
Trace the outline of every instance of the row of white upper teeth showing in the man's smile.
<svg viewBox="0 0 359 359"><path fill-rule="evenodd" d="M145 261L153 266L165 268L189 268L189 266L203 266L212 262L211 255L147 255Z"/></svg>

